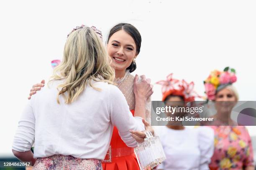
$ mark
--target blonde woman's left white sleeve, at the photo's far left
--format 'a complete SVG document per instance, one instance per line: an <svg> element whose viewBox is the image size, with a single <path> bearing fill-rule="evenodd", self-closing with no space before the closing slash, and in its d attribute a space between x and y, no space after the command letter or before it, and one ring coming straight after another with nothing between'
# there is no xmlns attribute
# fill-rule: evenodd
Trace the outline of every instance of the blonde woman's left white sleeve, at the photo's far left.
<svg viewBox="0 0 256 170"><path fill-rule="evenodd" d="M18 122L13 140L13 150L26 152L31 149L35 141L35 116L29 100Z"/></svg>

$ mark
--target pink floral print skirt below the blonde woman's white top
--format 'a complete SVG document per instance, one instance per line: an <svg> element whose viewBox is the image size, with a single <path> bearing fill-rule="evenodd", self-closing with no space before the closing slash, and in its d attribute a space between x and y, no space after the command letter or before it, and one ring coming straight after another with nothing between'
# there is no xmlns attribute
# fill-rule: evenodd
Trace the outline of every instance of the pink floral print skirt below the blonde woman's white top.
<svg viewBox="0 0 256 170"><path fill-rule="evenodd" d="M80 159L71 155L53 155L37 158L33 170L102 170L97 159Z"/></svg>

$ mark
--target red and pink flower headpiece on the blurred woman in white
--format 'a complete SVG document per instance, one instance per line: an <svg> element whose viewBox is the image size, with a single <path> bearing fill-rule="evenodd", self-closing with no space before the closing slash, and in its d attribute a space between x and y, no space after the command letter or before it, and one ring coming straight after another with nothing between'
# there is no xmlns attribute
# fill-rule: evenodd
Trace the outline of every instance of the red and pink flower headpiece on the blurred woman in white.
<svg viewBox="0 0 256 170"><path fill-rule="evenodd" d="M164 101L169 95L179 95L184 97L185 101L192 102L195 97L201 97L194 91L194 82L177 80L172 78L173 73L167 76L166 80L160 80L156 84L162 85L162 100Z"/></svg>

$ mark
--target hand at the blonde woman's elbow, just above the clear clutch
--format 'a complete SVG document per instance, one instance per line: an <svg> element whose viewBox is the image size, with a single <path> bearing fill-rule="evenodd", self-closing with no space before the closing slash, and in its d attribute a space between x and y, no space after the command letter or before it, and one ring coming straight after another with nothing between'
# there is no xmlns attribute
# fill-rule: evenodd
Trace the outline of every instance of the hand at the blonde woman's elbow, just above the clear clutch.
<svg viewBox="0 0 256 170"><path fill-rule="evenodd" d="M149 125L149 123L143 119L142 122L145 125L145 130L143 131L134 131L134 130L130 130L131 136L138 142L138 143L143 143L144 142L144 138L146 138L146 131L149 131L152 133L152 135L154 135L154 129L151 127L151 125Z"/></svg>

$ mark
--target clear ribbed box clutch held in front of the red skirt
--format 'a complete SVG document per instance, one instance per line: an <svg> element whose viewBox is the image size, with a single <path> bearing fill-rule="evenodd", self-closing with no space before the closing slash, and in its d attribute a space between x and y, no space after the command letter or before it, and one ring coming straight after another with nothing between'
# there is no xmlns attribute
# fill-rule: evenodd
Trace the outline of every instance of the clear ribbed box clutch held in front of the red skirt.
<svg viewBox="0 0 256 170"><path fill-rule="evenodd" d="M134 153L141 170L150 170L166 159L159 137L154 137L148 131L144 142L134 148Z"/></svg>

